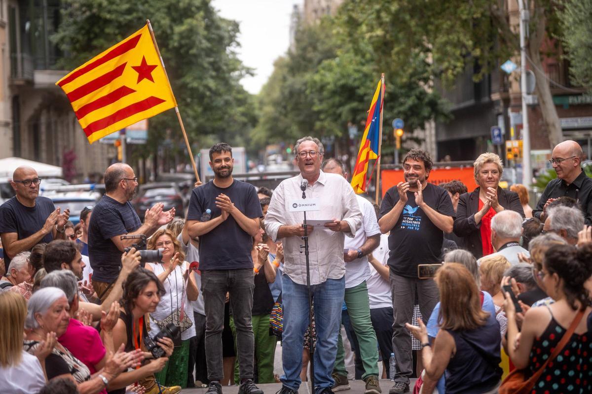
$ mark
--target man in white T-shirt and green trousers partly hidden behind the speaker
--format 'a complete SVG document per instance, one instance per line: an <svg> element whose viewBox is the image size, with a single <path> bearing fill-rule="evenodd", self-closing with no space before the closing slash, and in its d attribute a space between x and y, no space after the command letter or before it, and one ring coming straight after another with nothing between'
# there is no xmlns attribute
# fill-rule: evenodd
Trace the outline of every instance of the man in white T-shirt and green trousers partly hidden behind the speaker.
<svg viewBox="0 0 592 394"><path fill-rule="evenodd" d="M321 165L325 173L337 174L347 179L345 166L339 159L327 159ZM381 393L378 384L378 349L377 339L372 328L368 287L366 279L370 277L368 256L380 242L380 227L372 203L356 194L356 200L362 211L362 226L353 239L345 240L343 259L345 261L345 304L348 307L349 320L358 339L358 346L364 373L362 380L366 382L365 394ZM341 335L337 345L337 359L333 368L333 392L348 390L348 370L345 369L345 351Z"/></svg>

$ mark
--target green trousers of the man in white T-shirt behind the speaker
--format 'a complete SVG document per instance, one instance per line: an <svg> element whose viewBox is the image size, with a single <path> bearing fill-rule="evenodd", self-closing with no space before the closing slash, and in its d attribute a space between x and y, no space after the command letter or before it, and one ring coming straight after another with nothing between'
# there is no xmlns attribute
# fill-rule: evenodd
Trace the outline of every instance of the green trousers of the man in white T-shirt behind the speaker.
<svg viewBox="0 0 592 394"><path fill-rule="evenodd" d="M378 341L370 320L370 302L368 300L366 281L345 289L345 304L348 307L349 320L352 323L353 331L355 331L358 338L364 367L362 379L366 379L370 375L378 376ZM348 376L348 370L345 369L345 350L343 349L341 330L337 340L337 358L335 359L333 372Z"/></svg>

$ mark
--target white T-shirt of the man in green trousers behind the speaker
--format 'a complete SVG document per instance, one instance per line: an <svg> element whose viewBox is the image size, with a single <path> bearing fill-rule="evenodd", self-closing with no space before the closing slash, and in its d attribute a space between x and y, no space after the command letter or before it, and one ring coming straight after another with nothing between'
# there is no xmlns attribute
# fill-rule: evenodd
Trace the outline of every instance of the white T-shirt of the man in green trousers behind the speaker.
<svg viewBox="0 0 592 394"><path fill-rule="evenodd" d="M346 237L343 249L356 250L362 247L366 239L370 236L380 234L380 227L376 219L376 211L372 203L366 198L356 194L356 200L362 211L362 225L356 231L353 238ZM361 259L355 259L349 263L345 263L345 288L349 289L353 286L361 284L370 277L370 270L368 268L368 257L362 256Z"/></svg>

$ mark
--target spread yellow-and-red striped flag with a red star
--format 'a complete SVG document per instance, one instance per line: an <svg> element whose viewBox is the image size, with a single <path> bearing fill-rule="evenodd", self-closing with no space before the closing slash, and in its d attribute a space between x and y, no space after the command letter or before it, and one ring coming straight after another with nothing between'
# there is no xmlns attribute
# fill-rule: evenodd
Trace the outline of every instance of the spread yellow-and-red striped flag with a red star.
<svg viewBox="0 0 592 394"><path fill-rule="evenodd" d="M177 105L147 24L56 85L91 144Z"/></svg>

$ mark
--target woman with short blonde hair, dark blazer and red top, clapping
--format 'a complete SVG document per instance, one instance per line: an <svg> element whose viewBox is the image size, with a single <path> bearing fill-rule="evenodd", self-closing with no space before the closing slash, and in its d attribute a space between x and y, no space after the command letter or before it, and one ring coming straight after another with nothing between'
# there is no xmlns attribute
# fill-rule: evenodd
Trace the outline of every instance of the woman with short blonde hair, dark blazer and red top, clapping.
<svg viewBox="0 0 592 394"><path fill-rule="evenodd" d="M473 168L477 188L459 197L453 231L479 259L495 251L491 245L491 219L496 213L510 209L524 217L524 210L518 194L499 185L504 168L498 155L479 155Z"/></svg>

